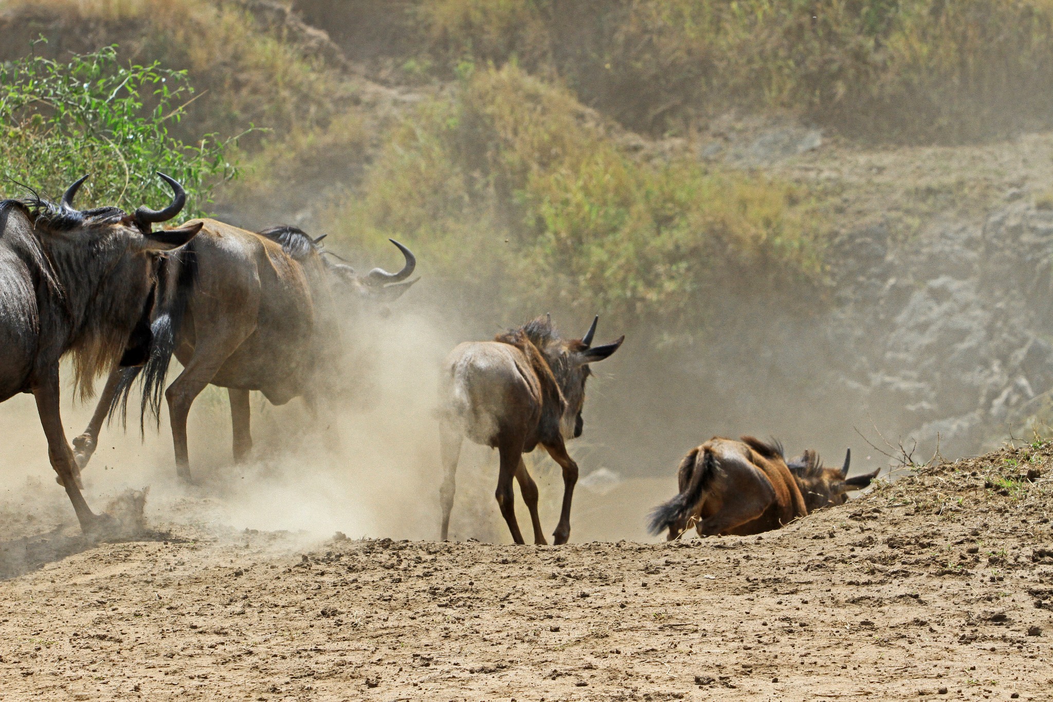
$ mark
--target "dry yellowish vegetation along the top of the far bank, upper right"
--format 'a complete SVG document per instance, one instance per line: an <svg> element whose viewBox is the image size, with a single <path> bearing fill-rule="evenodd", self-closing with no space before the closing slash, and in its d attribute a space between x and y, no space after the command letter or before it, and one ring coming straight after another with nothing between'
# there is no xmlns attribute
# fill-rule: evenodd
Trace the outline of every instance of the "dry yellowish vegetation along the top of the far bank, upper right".
<svg viewBox="0 0 1053 702"><path fill-rule="evenodd" d="M958 142L1053 123L1049 0L295 5L349 51L364 47L357 58L379 53L403 79L515 62L651 134L681 133L730 109L790 111L854 138L895 142ZM378 29L402 39L361 41Z"/></svg>

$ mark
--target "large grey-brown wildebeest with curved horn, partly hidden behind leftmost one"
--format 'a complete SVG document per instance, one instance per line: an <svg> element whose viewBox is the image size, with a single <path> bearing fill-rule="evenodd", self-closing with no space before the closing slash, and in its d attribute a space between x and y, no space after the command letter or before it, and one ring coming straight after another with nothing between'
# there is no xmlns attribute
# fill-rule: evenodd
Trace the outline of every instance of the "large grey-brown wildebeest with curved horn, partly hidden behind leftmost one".
<svg viewBox="0 0 1053 702"><path fill-rule="evenodd" d="M394 300L416 281L406 281L416 260L405 258L399 273L374 268L357 275L323 256L319 242L293 226L260 233L212 219L195 220L201 233L178 257L161 266L159 299L152 327L154 352L142 368L142 414L168 404L176 473L190 482L186 418L194 399L210 383L227 388L234 425L234 458L252 448L250 390L281 405L304 397L314 409L326 387L344 376L339 367L341 298L346 295ZM183 372L168 388L164 380L172 355ZM106 416L127 398L140 368L115 368L87 429L74 440L85 465Z"/></svg>

